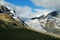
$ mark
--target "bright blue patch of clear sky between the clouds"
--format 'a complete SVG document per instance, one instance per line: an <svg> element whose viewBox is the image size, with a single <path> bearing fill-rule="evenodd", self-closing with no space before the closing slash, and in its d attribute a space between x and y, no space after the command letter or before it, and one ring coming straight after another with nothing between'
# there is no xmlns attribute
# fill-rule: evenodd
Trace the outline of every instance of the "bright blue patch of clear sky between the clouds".
<svg viewBox="0 0 60 40"><path fill-rule="evenodd" d="M44 8L42 6L34 5L31 0L5 0L5 1L10 2L14 5L18 5L18 6L29 6L31 8L38 8L38 9L43 9Z"/></svg>

